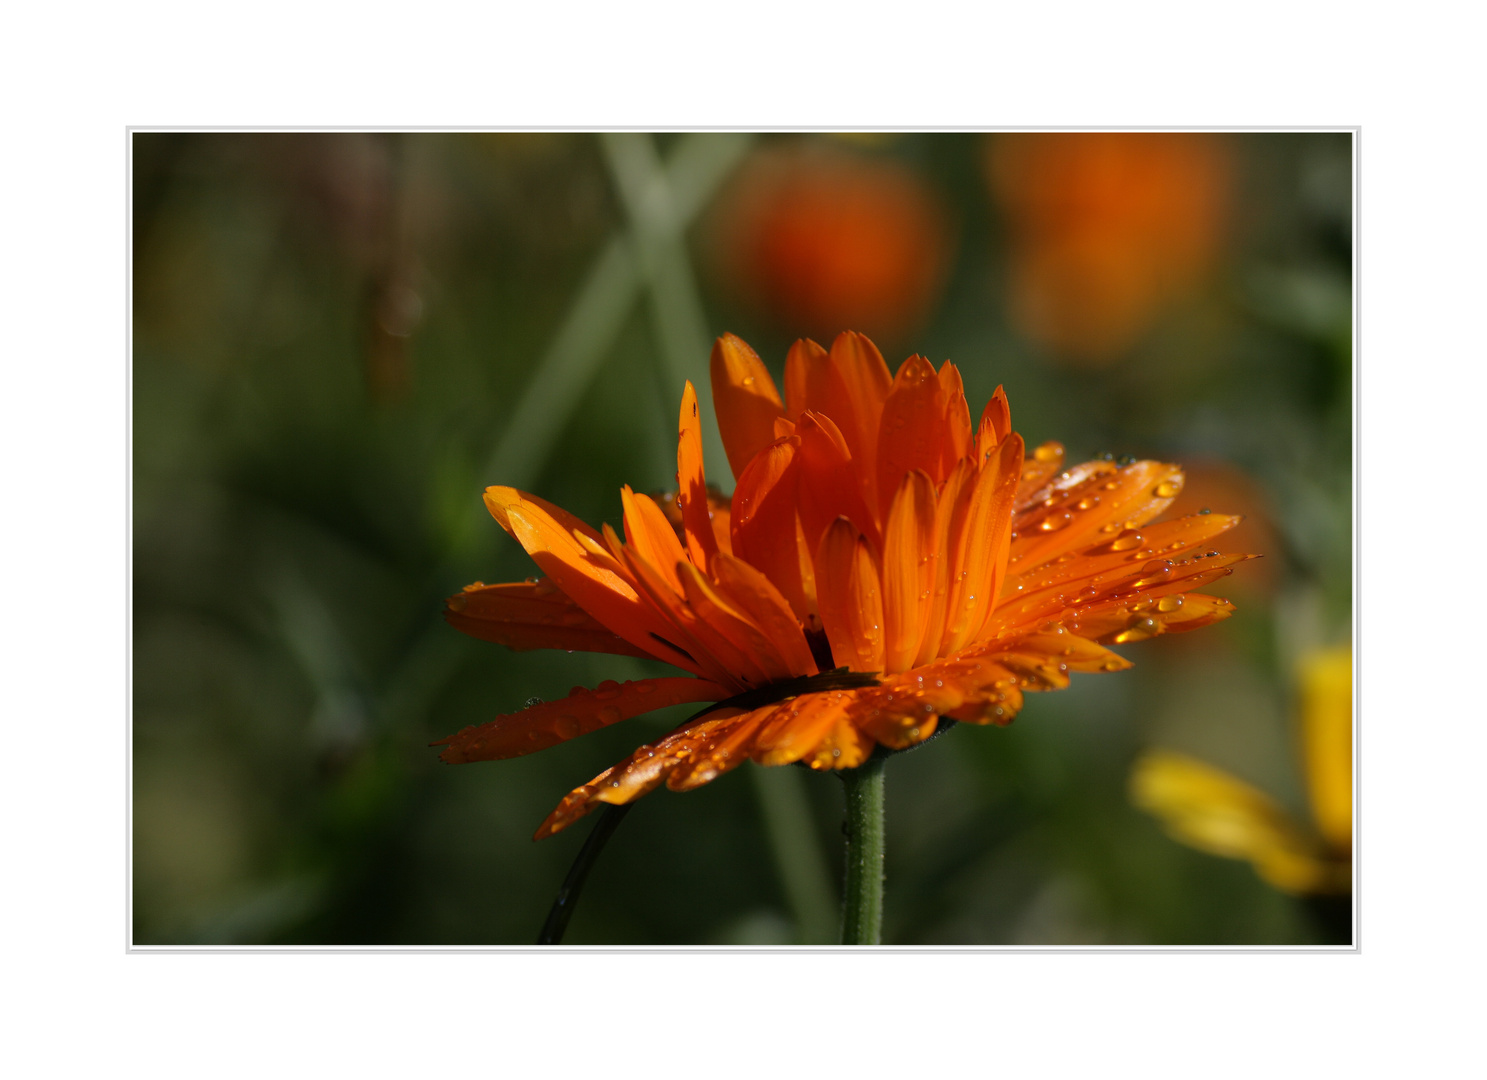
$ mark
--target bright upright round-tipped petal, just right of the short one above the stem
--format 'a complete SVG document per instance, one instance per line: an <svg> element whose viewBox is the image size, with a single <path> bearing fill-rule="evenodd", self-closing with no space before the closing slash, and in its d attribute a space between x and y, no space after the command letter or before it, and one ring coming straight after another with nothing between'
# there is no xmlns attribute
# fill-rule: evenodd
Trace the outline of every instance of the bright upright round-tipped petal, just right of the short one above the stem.
<svg viewBox="0 0 1487 1080"><path fill-rule="evenodd" d="M886 415L886 414L885 414ZM932 607L934 483L916 469L903 478L883 528L883 671L913 665Z"/></svg>

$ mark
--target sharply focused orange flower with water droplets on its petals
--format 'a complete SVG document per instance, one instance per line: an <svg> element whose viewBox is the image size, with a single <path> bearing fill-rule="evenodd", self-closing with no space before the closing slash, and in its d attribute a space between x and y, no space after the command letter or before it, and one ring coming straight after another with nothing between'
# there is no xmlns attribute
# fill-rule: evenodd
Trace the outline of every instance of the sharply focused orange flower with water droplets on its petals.
<svg viewBox="0 0 1487 1080"><path fill-rule="evenodd" d="M944 719L1005 724L1025 690L1130 666L1103 643L1233 611L1193 589L1249 558L1209 550L1237 518L1152 524L1182 488L1176 466L1065 469L1059 443L1025 460L1007 396L998 388L972 425L955 364L937 372L915 356L891 375L862 335L840 335L830 353L800 341L781 400L754 351L726 335L712 397L739 478L726 530L691 384L680 530L628 486L623 539L535 495L485 492L546 577L471 585L449 600L451 623L513 649L651 656L690 674L575 689L443 739L443 760L516 757L666 705L718 702L568 794L538 838L746 759L851 769Z"/></svg>

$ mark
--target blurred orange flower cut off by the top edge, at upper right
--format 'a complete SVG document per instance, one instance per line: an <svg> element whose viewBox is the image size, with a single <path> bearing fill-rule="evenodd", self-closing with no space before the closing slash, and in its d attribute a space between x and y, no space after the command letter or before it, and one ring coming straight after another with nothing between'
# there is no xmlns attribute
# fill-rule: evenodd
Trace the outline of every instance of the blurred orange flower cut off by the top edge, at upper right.
<svg viewBox="0 0 1487 1080"><path fill-rule="evenodd" d="M1068 363L1120 357L1218 257L1222 137L1005 134L986 165L1010 232L1011 320Z"/></svg>

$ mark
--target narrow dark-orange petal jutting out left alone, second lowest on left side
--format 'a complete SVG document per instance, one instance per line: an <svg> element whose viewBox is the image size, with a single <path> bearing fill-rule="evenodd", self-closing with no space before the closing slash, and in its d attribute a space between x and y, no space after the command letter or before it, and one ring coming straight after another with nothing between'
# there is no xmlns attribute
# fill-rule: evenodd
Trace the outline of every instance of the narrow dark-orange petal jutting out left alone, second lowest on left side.
<svg viewBox="0 0 1487 1080"><path fill-rule="evenodd" d="M693 701L721 701L729 689L702 678L642 678L633 683L605 680L593 690L575 686L562 701L546 701L520 713L498 716L477 727L434 742L445 747L440 760L501 762L587 735L608 724Z"/></svg>

